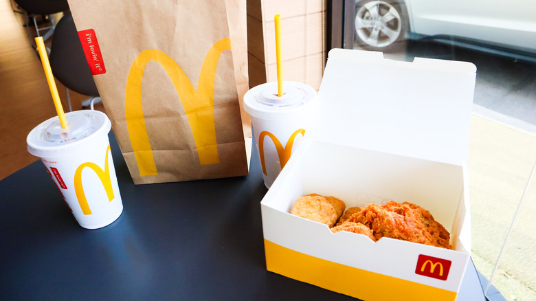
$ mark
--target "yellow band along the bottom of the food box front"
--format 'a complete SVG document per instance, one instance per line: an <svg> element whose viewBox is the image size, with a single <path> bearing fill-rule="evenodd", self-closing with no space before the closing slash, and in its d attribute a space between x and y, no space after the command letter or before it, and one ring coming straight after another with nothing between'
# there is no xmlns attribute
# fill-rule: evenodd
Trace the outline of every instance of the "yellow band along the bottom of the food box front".
<svg viewBox="0 0 536 301"><path fill-rule="evenodd" d="M458 295L454 291L421 285L302 254L266 239L265 254L266 267L269 271L367 301L454 301Z"/></svg>

